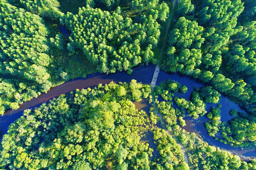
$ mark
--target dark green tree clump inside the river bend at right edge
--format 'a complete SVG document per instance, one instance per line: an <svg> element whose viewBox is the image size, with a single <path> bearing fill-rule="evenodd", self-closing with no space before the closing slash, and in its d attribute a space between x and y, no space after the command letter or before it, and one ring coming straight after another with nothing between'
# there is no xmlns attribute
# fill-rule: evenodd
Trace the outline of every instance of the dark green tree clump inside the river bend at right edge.
<svg viewBox="0 0 256 170"><path fill-rule="evenodd" d="M212 108L212 111L207 114L208 122L205 127L210 136L215 136L216 133L220 134L216 137L219 141L230 144L233 146L251 148L255 147L256 141L256 123L253 116L248 116L245 113L238 114L237 110L230 110L229 114L235 116L228 122L220 121L219 108Z"/></svg>

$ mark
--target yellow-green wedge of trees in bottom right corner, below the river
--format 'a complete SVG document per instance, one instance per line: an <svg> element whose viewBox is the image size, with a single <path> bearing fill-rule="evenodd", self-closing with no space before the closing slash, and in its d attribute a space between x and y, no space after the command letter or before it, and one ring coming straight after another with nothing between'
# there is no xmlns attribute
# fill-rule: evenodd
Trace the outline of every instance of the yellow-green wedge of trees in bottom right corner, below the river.
<svg viewBox="0 0 256 170"><path fill-rule="evenodd" d="M237 155L232 155L218 147L210 146L196 134L182 131L182 144L188 148L190 169L193 170L255 170L255 159L249 162L241 161Z"/></svg>

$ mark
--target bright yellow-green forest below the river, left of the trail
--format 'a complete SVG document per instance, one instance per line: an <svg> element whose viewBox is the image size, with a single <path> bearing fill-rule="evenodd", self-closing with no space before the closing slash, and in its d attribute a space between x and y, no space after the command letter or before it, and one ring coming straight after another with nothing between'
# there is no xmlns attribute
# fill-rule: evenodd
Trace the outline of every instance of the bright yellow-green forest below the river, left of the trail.
<svg viewBox="0 0 256 170"><path fill-rule="evenodd" d="M148 98L149 85L132 80L77 90L14 122L2 140L0 167L6 170L184 170L179 145L153 126L146 112L131 100ZM146 131L154 134L159 156L140 142ZM13 140L15 139L15 140Z"/></svg>

